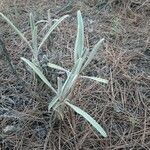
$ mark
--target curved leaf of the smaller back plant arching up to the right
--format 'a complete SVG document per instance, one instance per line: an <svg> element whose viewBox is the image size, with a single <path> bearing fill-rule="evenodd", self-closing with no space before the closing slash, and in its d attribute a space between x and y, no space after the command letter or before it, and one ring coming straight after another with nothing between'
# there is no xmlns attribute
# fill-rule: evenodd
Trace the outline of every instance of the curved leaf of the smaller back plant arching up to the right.
<svg viewBox="0 0 150 150"><path fill-rule="evenodd" d="M51 34L51 32L65 19L67 18L69 15L65 15L63 17L61 17L60 19L58 19L52 26L51 28L48 30L48 32L46 33L46 35L44 36L40 46L38 49L41 48L41 46L44 44L44 42L47 40L47 38L49 37L49 35Z"/></svg>

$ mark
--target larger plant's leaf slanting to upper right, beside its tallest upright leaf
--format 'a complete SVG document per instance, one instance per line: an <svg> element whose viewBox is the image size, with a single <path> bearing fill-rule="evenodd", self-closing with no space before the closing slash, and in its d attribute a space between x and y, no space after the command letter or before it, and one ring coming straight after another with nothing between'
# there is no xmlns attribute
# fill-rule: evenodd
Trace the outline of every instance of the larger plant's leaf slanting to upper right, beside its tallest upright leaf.
<svg viewBox="0 0 150 150"><path fill-rule="evenodd" d="M88 59L87 61L85 62L84 66L82 69L85 69L85 67L91 62L91 60L94 58L97 50L100 48L102 42L104 41L104 38L101 39L95 46L94 48L92 49L92 51L90 52L90 55L88 56Z"/></svg>

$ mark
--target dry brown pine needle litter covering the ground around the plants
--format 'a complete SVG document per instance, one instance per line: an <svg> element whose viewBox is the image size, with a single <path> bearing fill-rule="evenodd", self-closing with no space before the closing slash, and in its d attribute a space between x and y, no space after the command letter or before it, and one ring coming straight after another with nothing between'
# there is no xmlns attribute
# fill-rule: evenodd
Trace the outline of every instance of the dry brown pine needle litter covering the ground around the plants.
<svg viewBox="0 0 150 150"><path fill-rule="evenodd" d="M5 56L0 57L0 148L2 150L122 150L150 149L150 1L149 0L1 0L3 12L30 39L28 16L45 19L69 14L51 34L40 60L70 68L76 35L76 11L85 24L86 46L105 38L85 75L109 80L107 86L78 81L72 100L94 117L108 134L102 138L87 122L66 109L64 121L47 112L52 93L30 74L21 56L31 52L7 23L0 20L0 37L20 80ZM39 33L42 36L42 33ZM44 68L56 86L59 72ZM25 82L22 82L25 81ZM94 132L93 132L94 131Z"/></svg>

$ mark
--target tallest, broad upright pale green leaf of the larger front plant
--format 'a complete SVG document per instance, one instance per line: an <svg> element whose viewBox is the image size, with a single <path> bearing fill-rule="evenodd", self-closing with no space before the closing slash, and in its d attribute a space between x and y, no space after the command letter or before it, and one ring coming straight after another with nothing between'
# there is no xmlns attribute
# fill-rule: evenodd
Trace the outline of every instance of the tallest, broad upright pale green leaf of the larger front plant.
<svg viewBox="0 0 150 150"><path fill-rule="evenodd" d="M74 61L76 63L77 59L81 58L84 50L84 25L81 12L77 12L77 20L78 20L78 29L77 29L77 37L75 42L75 50L74 50Z"/></svg>

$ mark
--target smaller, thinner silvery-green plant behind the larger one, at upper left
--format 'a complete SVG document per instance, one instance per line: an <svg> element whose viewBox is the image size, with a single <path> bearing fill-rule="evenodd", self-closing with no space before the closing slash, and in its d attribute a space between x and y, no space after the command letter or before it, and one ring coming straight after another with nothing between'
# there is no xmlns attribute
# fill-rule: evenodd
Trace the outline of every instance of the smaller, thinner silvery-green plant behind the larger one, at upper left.
<svg viewBox="0 0 150 150"><path fill-rule="evenodd" d="M15 30L15 32L21 37L21 39L28 45L28 47L30 48L32 54L33 54L33 62L36 66L39 66L39 61L38 61L38 54L39 51L41 49L41 47L43 46L43 44L45 43L45 41L47 40L47 38L49 37L49 35L52 33L52 31L65 19L68 17L68 15L65 15L63 17L61 17L60 19L56 20L55 19L55 23L49 28L49 30L47 31L47 33L44 35L43 39L41 40L41 42L38 44L38 24L39 23L46 23L46 26L44 28L46 28L48 26L48 24L50 24L50 12L48 11L48 20L40 20L35 22L35 18L33 16L32 13L30 13L30 27L31 27L31 34L32 34L32 41L28 41L27 38L24 36L23 33L21 33L21 31L4 15L0 12L0 16Z"/></svg>

